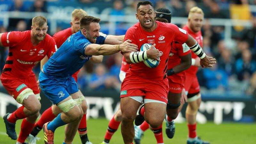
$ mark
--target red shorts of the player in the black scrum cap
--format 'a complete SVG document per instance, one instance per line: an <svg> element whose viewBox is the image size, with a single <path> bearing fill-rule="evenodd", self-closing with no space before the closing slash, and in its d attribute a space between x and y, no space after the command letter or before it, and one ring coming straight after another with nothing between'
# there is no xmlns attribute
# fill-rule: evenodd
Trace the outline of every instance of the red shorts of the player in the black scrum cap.
<svg viewBox="0 0 256 144"><path fill-rule="evenodd" d="M173 74L171 76L167 76L169 81L169 92L172 93L181 93L184 88L185 83L185 72L180 72L178 74Z"/></svg>

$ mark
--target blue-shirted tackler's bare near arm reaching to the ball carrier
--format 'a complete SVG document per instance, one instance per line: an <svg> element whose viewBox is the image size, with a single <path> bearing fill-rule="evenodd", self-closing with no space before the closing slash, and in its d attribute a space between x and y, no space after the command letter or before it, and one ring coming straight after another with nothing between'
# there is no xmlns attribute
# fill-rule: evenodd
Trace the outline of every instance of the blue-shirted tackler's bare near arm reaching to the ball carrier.
<svg viewBox="0 0 256 144"><path fill-rule="evenodd" d="M86 55L111 55L117 52L137 52L138 46L131 43L131 40L126 40L123 44L89 44L84 53Z"/></svg>

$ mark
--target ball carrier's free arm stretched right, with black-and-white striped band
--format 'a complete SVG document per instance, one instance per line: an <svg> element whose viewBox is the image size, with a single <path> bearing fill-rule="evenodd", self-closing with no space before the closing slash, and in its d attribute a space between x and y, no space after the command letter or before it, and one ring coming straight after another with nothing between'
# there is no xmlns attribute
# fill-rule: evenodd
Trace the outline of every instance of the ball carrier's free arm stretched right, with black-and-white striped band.
<svg viewBox="0 0 256 144"><path fill-rule="evenodd" d="M207 56L204 53L201 46L196 42L196 40L192 36L188 35L188 40L185 43L188 45L190 50L194 52L201 59L200 64L202 68L212 67L212 64L216 63L216 59Z"/></svg>

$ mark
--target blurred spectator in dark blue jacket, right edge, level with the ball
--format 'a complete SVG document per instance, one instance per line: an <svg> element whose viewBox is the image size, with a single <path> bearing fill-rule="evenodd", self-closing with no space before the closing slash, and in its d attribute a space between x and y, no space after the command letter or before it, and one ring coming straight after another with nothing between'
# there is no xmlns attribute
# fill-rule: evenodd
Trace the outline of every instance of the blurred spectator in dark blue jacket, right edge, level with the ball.
<svg viewBox="0 0 256 144"><path fill-rule="evenodd" d="M236 73L240 81L250 79L250 76L256 70L256 61L252 60L250 50L242 52L242 58L236 60Z"/></svg>

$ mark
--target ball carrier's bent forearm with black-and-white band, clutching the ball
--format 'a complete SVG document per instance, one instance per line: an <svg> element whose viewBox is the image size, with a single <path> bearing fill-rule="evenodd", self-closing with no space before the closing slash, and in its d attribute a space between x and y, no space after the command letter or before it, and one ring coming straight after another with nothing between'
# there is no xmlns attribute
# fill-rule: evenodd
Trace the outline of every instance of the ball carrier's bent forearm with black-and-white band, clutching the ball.
<svg viewBox="0 0 256 144"><path fill-rule="evenodd" d="M138 63L148 58L160 61L158 57L160 57L161 55L159 54L159 50L154 49L155 45L156 44L151 45L147 51L126 52L124 53L124 58L129 64Z"/></svg>

